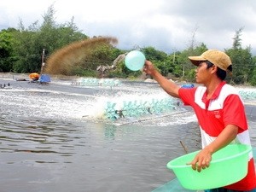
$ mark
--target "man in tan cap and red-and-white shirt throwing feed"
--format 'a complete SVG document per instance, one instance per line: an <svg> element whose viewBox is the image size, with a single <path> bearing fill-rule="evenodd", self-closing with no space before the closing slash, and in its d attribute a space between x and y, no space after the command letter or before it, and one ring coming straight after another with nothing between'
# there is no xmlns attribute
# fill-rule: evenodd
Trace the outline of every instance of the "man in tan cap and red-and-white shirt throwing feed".
<svg viewBox="0 0 256 192"><path fill-rule="evenodd" d="M235 87L224 81L227 73L232 71L230 57L217 49L208 49L200 56L189 56L189 60L196 66L196 83L202 84L191 89L182 88L166 79L151 61L145 61L143 71L151 75L169 95L180 98L184 105L194 108L201 129L202 149L189 164L201 172L210 166L212 154L220 148L230 143L251 143L241 97ZM206 191L256 191L253 154L249 154L247 176L241 181Z"/></svg>

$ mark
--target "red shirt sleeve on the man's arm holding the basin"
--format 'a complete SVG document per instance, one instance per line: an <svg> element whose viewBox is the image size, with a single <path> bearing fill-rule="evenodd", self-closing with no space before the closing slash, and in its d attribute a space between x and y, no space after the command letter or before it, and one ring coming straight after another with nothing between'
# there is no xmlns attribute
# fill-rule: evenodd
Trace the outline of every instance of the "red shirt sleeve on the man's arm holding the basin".
<svg viewBox="0 0 256 192"><path fill-rule="evenodd" d="M238 95L230 95L224 101L224 125L236 125L240 131L247 130L245 108Z"/></svg>

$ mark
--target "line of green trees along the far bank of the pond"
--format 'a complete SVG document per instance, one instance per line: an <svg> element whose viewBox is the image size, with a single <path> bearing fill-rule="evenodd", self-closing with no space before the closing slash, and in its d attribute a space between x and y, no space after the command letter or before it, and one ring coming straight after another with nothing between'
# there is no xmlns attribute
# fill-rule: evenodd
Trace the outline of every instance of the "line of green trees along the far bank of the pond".
<svg viewBox="0 0 256 192"><path fill-rule="evenodd" d="M73 42L90 39L79 30L72 18L63 24L55 21L55 9L49 6L43 15L43 23L38 20L25 27L22 20L17 28L9 27L0 32L0 72L8 73L40 73L42 63L49 55ZM233 44L224 51L230 55L233 62L233 74L227 81L232 84L256 85L256 56L251 53L251 47L241 47L241 34L243 28L235 32ZM93 37L99 38L99 37ZM194 36L193 36L194 38ZM189 55L201 55L207 50L204 43L195 45L194 39L187 49L166 54L154 47L140 48L146 58L154 62L154 66L170 79L182 79L193 82L195 80L195 67L191 65ZM44 51L43 51L44 50ZM113 61L130 50L117 49L112 44L101 44L90 51L90 55L80 61L79 67L71 67L65 75L99 76L96 68L100 65L113 65ZM137 78L142 72L131 72L121 61L113 70L104 74L108 78Z"/></svg>

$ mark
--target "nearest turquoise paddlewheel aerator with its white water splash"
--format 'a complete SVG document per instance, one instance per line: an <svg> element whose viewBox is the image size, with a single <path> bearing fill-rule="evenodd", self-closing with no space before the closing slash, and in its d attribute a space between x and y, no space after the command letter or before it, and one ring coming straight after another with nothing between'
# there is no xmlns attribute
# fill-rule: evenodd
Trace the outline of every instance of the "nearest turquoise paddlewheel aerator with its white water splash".
<svg viewBox="0 0 256 192"><path fill-rule="evenodd" d="M96 119L139 118L148 114L163 114L176 110L177 99L160 92L126 93L119 91L114 96L98 96L94 108L86 116Z"/></svg>

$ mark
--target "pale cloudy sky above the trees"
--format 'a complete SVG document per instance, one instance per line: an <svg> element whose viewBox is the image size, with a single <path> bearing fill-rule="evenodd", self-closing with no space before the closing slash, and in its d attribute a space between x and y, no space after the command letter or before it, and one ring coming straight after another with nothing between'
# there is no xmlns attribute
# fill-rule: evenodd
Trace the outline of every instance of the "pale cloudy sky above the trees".
<svg viewBox="0 0 256 192"><path fill-rule="evenodd" d="M119 49L154 47L165 51L187 49L204 43L208 49L230 49L242 28L241 45L256 55L255 0L1 0L0 30L37 21L50 5L55 21L74 18L79 30L90 38L118 38Z"/></svg>

